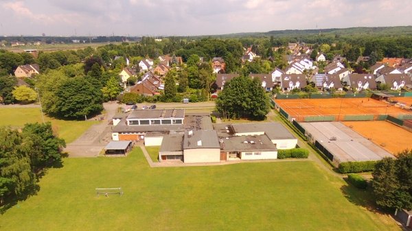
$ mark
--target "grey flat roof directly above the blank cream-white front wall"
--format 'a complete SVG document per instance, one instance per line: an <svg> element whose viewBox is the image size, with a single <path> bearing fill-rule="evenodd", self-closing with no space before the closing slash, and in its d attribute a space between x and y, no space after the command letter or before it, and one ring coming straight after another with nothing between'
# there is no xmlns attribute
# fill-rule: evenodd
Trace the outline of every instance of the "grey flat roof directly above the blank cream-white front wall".
<svg viewBox="0 0 412 231"><path fill-rule="evenodd" d="M218 148L218 134L215 130L186 131L183 137L183 149Z"/></svg>

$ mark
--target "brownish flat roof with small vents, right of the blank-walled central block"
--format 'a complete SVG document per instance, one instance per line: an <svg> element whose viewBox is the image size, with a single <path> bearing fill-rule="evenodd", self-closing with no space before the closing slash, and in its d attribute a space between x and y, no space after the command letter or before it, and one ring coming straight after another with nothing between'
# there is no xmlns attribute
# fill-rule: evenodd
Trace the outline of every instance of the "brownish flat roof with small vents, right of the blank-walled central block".
<svg viewBox="0 0 412 231"><path fill-rule="evenodd" d="M220 139L225 151L277 151L276 146L264 135L233 136Z"/></svg>

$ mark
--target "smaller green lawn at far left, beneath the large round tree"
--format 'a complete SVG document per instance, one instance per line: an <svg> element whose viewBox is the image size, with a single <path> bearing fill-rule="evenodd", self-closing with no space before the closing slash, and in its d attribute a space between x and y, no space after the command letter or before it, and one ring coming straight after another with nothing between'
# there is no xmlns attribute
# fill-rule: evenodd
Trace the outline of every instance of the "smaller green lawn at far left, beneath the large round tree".
<svg viewBox="0 0 412 231"><path fill-rule="evenodd" d="M53 129L66 143L76 140L83 132L98 121L64 121L45 117L51 121ZM25 123L41 123L40 108L0 108L0 126L23 127Z"/></svg>

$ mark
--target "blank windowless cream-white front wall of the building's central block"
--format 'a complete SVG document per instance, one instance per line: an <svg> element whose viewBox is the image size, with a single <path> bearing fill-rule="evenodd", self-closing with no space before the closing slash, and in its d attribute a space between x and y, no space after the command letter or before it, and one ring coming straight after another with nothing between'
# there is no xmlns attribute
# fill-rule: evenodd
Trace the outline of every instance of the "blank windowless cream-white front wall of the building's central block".
<svg viewBox="0 0 412 231"><path fill-rule="evenodd" d="M185 163L220 162L219 148L185 149L183 151Z"/></svg>

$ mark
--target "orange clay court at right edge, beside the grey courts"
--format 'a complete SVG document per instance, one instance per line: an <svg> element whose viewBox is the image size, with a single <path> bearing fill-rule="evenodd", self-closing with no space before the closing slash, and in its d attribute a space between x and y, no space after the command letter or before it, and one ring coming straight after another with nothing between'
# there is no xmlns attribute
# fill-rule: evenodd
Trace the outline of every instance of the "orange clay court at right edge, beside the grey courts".
<svg viewBox="0 0 412 231"><path fill-rule="evenodd" d="M342 123L393 155L404 149L412 149L412 132L393 123L387 121L344 121Z"/></svg>

